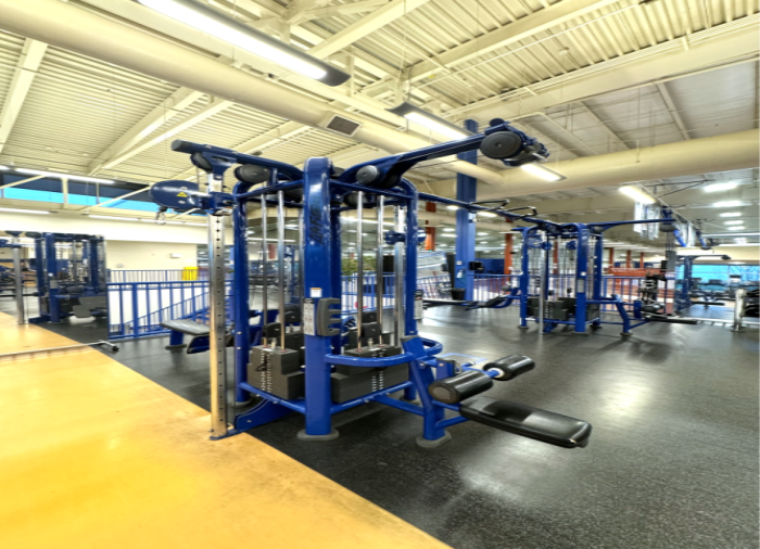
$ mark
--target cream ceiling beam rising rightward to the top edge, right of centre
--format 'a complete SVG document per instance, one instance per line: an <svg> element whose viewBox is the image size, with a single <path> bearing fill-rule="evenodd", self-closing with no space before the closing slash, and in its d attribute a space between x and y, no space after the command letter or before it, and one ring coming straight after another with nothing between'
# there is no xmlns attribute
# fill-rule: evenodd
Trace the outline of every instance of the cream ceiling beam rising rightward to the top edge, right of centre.
<svg viewBox="0 0 760 549"><path fill-rule="evenodd" d="M517 43L556 27L582 15L591 13L606 5L617 3L618 0L562 0L531 13L514 23L486 33L474 40L457 46L446 52L435 55L432 60L422 61L414 65L409 71L409 79L417 81L440 72L441 67L460 65L473 58L483 55L498 48Z"/></svg>

